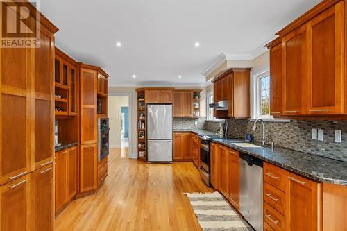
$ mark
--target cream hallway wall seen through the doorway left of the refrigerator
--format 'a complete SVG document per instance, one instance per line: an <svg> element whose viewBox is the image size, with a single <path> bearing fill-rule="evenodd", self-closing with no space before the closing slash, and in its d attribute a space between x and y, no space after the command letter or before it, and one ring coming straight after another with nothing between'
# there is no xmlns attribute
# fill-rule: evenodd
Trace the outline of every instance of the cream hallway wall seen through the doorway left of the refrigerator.
<svg viewBox="0 0 347 231"><path fill-rule="evenodd" d="M121 107L129 106L128 96L108 96L110 148L121 148Z"/></svg>

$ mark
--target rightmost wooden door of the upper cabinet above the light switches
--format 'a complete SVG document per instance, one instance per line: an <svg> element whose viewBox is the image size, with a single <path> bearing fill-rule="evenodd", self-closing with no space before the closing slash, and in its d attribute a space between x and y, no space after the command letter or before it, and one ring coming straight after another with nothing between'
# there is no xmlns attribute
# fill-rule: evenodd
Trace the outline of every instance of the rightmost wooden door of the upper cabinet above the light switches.
<svg viewBox="0 0 347 231"><path fill-rule="evenodd" d="M341 114L344 33L342 1L307 23L307 114Z"/></svg>

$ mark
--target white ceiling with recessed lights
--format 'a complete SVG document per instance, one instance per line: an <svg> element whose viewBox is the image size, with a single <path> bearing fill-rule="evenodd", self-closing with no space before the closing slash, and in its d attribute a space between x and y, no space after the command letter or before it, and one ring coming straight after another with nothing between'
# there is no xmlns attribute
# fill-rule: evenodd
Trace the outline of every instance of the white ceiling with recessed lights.
<svg viewBox="0 0 347 231"><path fill-rule="evenodd" d="M254 53L319 1L42 0L41 11L60 28L56 46L103 68L110 85L188 86L205 83L221 53Z"/></svg>

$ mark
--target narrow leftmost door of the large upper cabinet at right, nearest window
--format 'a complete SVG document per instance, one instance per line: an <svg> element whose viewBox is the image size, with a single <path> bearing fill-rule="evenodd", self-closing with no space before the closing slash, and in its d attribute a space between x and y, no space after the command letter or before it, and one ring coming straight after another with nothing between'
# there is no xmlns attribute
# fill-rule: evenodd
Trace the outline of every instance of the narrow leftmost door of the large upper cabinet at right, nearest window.
<svg viewBox="0 0 347 231"><path fill-rule="evenodd" d="M270 114L282 114L282 43L270 50Z"/></svg>

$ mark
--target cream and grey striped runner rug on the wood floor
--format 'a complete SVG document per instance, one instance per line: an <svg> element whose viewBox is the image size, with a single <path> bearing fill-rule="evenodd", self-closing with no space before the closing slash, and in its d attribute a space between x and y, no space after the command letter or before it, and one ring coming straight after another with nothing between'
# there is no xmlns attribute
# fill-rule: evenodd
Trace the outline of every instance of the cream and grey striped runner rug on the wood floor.
<svg viewBox="0 0 347 231"><path fill-rule="evenodd" d="M186 195L203 231L253 231L217 191Z"/></svg>

